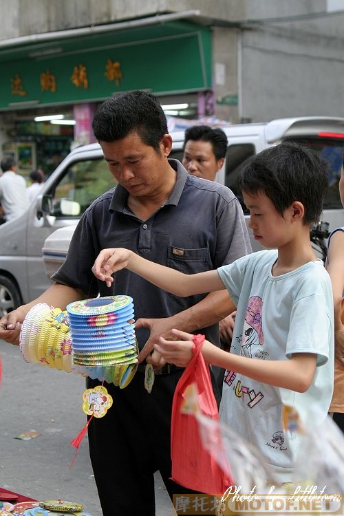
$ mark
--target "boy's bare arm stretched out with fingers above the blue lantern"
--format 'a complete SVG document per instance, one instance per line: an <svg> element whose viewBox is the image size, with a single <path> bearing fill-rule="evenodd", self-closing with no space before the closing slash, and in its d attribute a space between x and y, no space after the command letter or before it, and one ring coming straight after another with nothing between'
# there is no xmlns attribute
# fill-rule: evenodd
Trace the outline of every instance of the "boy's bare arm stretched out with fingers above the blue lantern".
<svg viewBox="0 0 344 516"><path fill-rule="evenodd" d="M204 294L225 288L217 270L186 275L170 267L155 264L153 261L123 248L109 248L100 251L92 267L92 272L98 279L105 281L109 287L114 281L111 275L123 268L135 272L153 285L179 297Z"/></svg>

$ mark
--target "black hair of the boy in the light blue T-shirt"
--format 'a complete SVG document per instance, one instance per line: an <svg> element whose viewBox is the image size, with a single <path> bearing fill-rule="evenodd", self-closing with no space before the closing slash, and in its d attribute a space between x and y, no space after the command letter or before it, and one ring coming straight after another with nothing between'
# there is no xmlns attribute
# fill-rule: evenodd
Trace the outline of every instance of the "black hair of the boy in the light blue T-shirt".
<svg viewBox="0 0 344 516"><path fill-rule="evenodd" d="M239 175L239 187L249 194L264 193L283 216L294 201L305 208L303 224L318 223L328 185L328 164L294 142L269 147L252 156Z"/></svg>

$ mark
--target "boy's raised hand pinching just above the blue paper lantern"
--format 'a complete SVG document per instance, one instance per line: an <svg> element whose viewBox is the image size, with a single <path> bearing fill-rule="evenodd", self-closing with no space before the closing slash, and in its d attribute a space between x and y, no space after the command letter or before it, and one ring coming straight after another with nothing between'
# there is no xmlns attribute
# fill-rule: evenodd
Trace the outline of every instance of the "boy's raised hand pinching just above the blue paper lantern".
<svg viewBox="0 0 344 516"><path fill-rule="evenodd" d="M107 287L111 287L114 272L124 269L128 265L132 251L124 248L109 248L100 251L92 267L92 272L96 278L105 281Z"/></svg>

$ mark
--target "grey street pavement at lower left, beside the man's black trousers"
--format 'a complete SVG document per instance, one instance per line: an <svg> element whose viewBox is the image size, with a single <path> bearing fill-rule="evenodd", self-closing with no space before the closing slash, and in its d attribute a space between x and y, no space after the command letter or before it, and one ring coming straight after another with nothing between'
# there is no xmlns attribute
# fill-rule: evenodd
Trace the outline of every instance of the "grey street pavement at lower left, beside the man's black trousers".
<svg viewBox="0 0 344 516"><path fill-rule="evenodd" d="M86 422L81 408L85 379L25 363L19 347L3 341L0 357L0 488L34 499L78 502L92 516L102 516L87 433L69 468L75 451L69 443ZM27 441L16 438L32 430L40 435ZM175 515L158 473L155 499L158 516Z"/></svg>

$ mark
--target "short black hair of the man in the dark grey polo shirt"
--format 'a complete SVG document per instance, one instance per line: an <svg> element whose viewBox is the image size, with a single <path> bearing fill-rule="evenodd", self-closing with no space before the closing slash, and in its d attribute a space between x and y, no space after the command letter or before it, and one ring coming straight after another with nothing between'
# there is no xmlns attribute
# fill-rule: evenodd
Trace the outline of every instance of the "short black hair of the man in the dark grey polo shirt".
<svg viewBox="0 0 344 516"><path fill-rule="evenodd" d="M98 142L122 140L137 131L144 144L159 151L160 141L167 134L166 116L158 99L136 90L111 96L96 111L92 122Z"/></svg>

